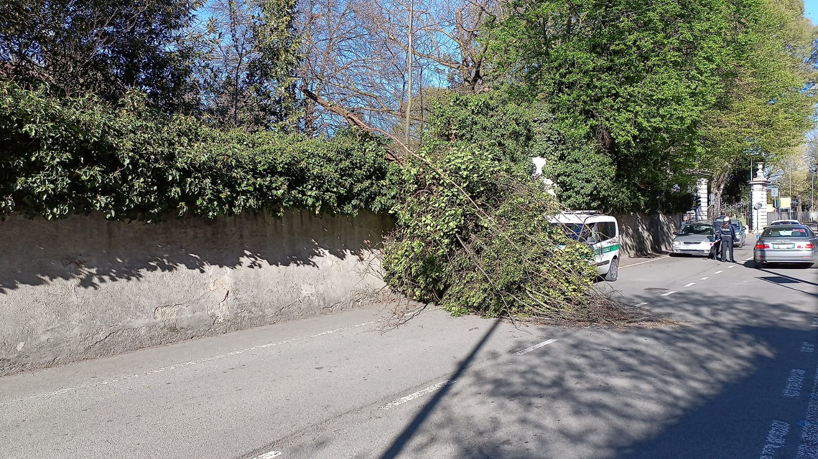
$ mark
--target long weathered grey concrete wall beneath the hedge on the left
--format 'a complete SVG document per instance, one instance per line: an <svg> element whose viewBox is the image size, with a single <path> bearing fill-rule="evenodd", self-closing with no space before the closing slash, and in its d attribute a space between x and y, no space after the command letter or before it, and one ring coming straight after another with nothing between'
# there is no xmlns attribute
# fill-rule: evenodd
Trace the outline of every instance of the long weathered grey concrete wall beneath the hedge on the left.
<svg viewBox="0 0 818 459"><path fill-rule="evenodd" d="M369 301L390 222L71 216L0 222L0 375Z"/></svg>

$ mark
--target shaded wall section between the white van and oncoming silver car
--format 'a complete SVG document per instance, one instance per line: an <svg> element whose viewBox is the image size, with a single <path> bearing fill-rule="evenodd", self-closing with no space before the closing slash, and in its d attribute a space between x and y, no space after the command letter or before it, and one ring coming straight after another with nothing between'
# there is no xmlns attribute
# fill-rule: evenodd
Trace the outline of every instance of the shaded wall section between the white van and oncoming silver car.
<svg viewBox="0 0 818 459"><path fill-rule="evenodd" d="M616 216L623 256L640 256L669 250L681 216L629 214Z"/></svg>

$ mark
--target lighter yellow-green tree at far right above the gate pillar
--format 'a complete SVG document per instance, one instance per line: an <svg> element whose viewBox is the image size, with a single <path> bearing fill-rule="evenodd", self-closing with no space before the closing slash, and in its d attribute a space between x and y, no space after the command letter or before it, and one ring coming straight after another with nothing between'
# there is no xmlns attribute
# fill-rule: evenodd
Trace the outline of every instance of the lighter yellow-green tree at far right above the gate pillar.
<svg viewBox="0 0 818 459"><path fill-rule="evenodd" d="M739 27L724 89L701 123L699 164L713 172L717 205L732 172L752 158L775 165L798 155L815 114L818 34L804 17L803 2L757 2Z"/></svg>

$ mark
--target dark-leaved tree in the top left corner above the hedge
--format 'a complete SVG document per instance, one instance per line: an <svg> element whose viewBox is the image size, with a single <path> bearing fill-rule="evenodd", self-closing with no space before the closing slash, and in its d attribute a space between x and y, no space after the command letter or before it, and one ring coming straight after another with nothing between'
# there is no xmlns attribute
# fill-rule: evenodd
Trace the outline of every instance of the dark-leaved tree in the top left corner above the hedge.
<svg viewBox="0 0 818 459"><path fill-rule="evenodd" d="M2 2L0 77L110 101L137 88L161 109L187 109L197 1Z"/></svg>

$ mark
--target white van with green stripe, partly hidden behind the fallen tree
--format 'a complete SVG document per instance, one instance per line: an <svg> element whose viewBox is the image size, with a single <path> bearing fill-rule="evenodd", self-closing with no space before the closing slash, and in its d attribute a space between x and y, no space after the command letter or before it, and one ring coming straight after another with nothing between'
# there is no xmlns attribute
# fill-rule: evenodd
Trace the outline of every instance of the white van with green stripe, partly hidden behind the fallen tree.
<svg viewBox="0 0 818 459"><path fill-rule="evenodd" d="M619 222L615 217L596 211L572 211L561 212L551 222L564 226L570 238L593 247L596 255L591 263L605 280L613 282L618 278Z"/></svg>

